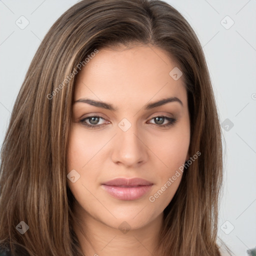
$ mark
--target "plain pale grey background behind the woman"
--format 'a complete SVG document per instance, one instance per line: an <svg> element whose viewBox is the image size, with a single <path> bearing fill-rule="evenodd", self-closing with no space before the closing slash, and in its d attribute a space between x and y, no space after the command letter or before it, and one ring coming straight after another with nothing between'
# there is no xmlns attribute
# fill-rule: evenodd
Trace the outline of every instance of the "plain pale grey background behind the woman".
<svg viewBox="0 0 256 256"><path fill-rule="evenodd" d="M166 2L183 14L203 46L223 123L225 173L218 234L235 255L247 255L246 250L256 246L256 0ZM37 47L74 3L0 0L0 145ZM21 15L29 21L24 29L15 23L25 24Z"/></svg>

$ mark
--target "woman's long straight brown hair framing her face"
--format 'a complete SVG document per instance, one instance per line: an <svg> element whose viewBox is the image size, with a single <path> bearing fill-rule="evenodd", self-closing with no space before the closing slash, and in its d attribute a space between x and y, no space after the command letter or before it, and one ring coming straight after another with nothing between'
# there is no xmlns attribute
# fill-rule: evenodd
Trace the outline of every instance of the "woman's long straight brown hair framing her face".
<svg viewBox="0 0 256 256"><path fill-rule="evenodd" d="M88 55L132 43L157 46L178 63L188 97L189 154L201 153L184 170L164 209L159 251L164 256L220 255L221 130L209 73L189 23L160 0L82 0L65 11L43 38L1 148L2 247L8 245L18 255L22 248L37 256L82 254L72 228L75 199L66 181L75 74ZM29 227L23 234L16 228L20 221Z"/></svg>

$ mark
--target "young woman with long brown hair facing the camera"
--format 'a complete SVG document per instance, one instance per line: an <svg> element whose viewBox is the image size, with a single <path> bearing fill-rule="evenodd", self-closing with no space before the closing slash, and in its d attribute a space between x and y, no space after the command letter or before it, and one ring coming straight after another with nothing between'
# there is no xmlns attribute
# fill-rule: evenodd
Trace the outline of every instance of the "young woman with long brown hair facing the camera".
<svg viewBox="0 0 256 256"><path fill-rule="evenodd" d="M0 170L4 253L221 255L219 119L184 17L159 0L68 9L29 66Z"/></svg>

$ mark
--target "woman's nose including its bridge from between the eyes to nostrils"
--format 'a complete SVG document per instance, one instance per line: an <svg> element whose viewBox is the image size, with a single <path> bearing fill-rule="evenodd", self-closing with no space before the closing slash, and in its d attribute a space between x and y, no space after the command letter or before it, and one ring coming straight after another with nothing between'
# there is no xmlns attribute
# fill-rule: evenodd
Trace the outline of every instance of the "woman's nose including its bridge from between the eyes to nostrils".
<svg viewBox="0 0 256 256"><path fill-rule="evenodd" d="M112 160L122 162L125 165L133 165L145 161L147 157L146 147L143 144L141 132L135 123L123 118L118 123L115 136Z"/></svg>

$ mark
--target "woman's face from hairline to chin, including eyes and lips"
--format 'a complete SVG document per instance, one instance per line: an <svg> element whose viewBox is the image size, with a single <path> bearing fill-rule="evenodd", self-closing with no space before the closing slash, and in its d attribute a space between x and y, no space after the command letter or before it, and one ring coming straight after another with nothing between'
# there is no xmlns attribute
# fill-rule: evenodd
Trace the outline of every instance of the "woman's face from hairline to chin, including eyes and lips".
<svg viewBox="0 0 256 256"><path fill-rule="evenodd" d="M137 45L100 49L77 74L66 174L85 220L138 228L171 201L190 141L186 89L182 76L169 74L174 67L160 48Z"/></svg>

